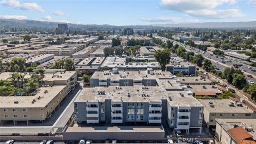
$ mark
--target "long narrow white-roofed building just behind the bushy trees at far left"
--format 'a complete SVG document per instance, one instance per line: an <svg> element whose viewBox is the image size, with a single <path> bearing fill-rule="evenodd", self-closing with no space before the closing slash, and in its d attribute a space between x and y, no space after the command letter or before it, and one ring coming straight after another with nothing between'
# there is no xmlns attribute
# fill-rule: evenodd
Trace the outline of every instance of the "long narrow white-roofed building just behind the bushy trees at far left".
<svg viewBox="0 0 256 144"><path fill-rule="evenodd" d="M35 57L26 59L26 64L28 66L35 66L35 65L40 65L41 63L44 63L51 59L54 59L54 54L40 54Z"/></svg>

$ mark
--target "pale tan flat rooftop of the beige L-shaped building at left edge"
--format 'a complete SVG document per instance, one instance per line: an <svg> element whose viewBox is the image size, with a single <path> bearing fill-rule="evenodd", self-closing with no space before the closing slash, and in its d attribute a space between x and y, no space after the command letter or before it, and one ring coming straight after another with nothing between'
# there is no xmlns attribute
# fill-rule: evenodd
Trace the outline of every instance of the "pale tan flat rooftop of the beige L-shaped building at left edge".
<svg viewBox="0 0 256 144"><path fill-rule="evenodd" d="M1 108L42 108L45 107L66 85L40 87L35 91L34 96L0 97ZM45 91L48 91L45 93ZM38 99L40 97L40 99ZM35 103L32 103L33 100ZM14 103L18 101L18 103Z"/></svg>

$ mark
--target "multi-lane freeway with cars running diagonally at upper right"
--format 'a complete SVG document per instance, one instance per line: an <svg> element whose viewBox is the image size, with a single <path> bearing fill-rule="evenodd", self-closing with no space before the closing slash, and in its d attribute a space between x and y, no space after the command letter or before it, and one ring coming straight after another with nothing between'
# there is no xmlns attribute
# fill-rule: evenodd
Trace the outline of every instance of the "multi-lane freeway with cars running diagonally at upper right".
<svg viewBox="0 0 256 144"><path fill-rule="evenodd" d="M169 38L156 36L156 35L153 35L153 37L161 38L163 42L166 42L166 41L170 40L171 42L173 42L173 45L178 44L178 45L181 45L181 46L185 47L185 49L187 51L193 51L195 54L202 54L203 57L209 58L212 61L213 65L218 67L219 70L222 71L222 72L224 71L226 66L221 65L221 59L220 58L223 58L223 60L225 60L225 61L231 60L231 62L226 62L225 63L225 65L230 66L230 67L233 67L233 64L243 64L243 66L239 67L239 69L241 69L241 70L243 69L244 72L249 73L253 76L253 78L251 78L251 77L247 77L247 74L244 74L247 81L251 80L251 81L256 82L256 77L254 77L254 76L256 76L256 72L251 70L251 69L256 69L256 68L254 68L254 67L247 68L249 66L247 64L249 64L249 63L246 62L246 61L242 61L242 60L238 60L238 59L234 59L234 58L220 57L220 56L217 57L217 55L214 55L214 54L211 54L209 52L205 52L205 51L196 49L195 47L191 47L189 45L186 45L186 44L183 44L183 43L180 43L180 42L177 42L177 41L173 41L172 39L169 39ZM215 63L215 61L218 61L218 63Z"/></svg>

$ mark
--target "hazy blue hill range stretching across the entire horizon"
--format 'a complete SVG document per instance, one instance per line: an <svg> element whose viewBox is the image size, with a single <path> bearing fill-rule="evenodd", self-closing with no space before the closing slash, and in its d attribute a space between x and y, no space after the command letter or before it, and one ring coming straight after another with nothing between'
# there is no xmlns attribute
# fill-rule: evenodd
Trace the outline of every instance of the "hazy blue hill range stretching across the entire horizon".
<svg viewBox="0 0 256 144"><path fill-rule="evenodd" d="M0 19L0 29L20 28L27 30L54 30L58 23L51 21L36 21L36 20L16 20L16 19ZM180 23L180 24L154 24L154 25L132 25L132 26L113 26L113 25L77 25L67 23L69 29L76 30L119 30L121 28L136 28L136 29L172 29L172 28L218 28L218 29L234 29L246 28L256 29L256 21L250 22L202 22L202 23Z"/></svg>

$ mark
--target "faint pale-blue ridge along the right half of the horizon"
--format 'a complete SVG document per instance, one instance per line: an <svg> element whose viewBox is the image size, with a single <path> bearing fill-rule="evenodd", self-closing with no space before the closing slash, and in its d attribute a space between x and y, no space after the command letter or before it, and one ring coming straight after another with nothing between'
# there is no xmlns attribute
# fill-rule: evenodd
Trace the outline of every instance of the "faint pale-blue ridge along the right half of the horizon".
<svg viewBox="0 0 256 144"><path fill-rule="evenodd" d="M180 24L156 24L160 27L188 27L188 28L256 28L256 21L250 22L202 22Z"/></svg>

